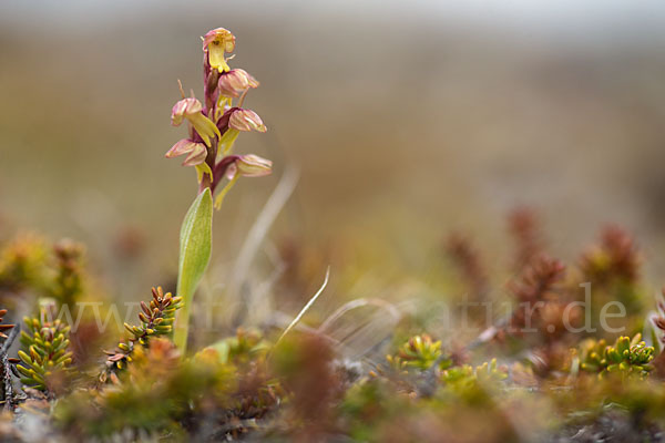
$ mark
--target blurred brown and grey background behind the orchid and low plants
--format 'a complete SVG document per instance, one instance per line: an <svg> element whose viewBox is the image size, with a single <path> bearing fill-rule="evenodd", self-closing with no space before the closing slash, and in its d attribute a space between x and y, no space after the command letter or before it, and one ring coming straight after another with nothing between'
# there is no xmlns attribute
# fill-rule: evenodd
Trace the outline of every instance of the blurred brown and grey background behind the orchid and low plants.
<svg viewBox="0 0 665 443"><path fill-rule="evenodd" d="M304 299L328 264L334 278L344 266L386 287L427 276L451 230L500 260L521 205L555 254L574 257L618 223L665 277L657 0L3 0L1 236L82 240L127 299L173 281L196 182L164 158L184 134L170 111L177 79L202 96L200 35L216 27L236 35L232 65L262 82L246 107L268 132L236 148L275 173L241 181L216 214L214 269L294 165L260 257L309 250ZM347 288L368 296L358 278Z"/></svg>

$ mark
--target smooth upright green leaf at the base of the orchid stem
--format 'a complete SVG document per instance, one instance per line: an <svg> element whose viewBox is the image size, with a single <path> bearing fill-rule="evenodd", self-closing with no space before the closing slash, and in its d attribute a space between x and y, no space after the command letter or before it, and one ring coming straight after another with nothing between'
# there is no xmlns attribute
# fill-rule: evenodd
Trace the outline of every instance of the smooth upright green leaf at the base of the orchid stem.
<svg viewBox="0 0 665 443"><path fill-rule="evenodd" d="M181 248L177 272L177 296L183 298L183 308L175 323L175 344L185 352L190 309L196 287L211 260L213 245L213 196L206 188L198 194L185 215L181 228Z"/></svg>

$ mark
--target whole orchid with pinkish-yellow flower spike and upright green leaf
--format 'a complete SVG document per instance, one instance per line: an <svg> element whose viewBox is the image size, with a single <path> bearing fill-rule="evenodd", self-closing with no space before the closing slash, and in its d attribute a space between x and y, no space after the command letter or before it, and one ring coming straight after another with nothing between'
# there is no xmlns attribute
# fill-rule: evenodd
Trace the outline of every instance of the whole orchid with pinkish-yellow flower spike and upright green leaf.
<svg viewBox="0 0 665 443"><path fill-rule="evenodd" d="M235 37L224 28L213 29L203 38L203 102L192 92L180 100L171 112L171 124L187 123L188 135L176 142L166 157L185 156L184 166L194 166L198 194L190 207L181 229L177 295L183 309L175 326L174 341L184 352L187 342L190 309L196 287L203 277L212 250L214 206L219 209L228 190L241 177L260 177L272 172L273 163L258 155L233 154L242 132L266 132L262 119L244 109L245 97L259 83L242 69L231 69L226 54L235 50Z"/></svg>

